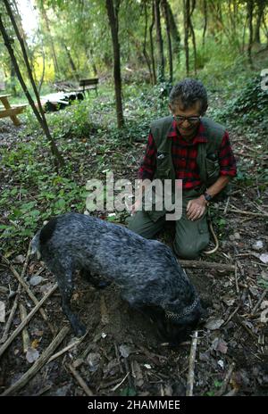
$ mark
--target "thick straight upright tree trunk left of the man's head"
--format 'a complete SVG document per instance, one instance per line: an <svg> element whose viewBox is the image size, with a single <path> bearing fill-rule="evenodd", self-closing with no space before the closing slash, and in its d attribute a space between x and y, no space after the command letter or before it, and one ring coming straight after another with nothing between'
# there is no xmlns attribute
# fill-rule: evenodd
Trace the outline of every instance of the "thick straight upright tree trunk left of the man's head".
<svg viewBox="0 0 268 414"><path fill-rule="evenodd" d="M116 114L118 128L124 125L122 104L121 104L121 63L120 63L120 44L118 40L118 12L120 0L106 0L106 9L110 23L112 39L113 39L113 79L116 99Z"/></svg>

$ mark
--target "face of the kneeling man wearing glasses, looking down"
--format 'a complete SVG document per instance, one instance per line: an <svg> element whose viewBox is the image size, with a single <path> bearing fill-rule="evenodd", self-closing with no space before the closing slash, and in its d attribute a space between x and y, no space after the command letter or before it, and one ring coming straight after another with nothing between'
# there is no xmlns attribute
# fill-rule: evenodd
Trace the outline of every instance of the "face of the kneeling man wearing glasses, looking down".
<svg viewBox="0 0 268 414"><path fill-rule="evenodd" d="M180 132L181 137L191 139L195 136L197 128L199 127L200 103L197 102L191 108L182 109L180 105L171 107L172 115L176 120L176 126ZM185 119L178 120L178 117L185 117ZM193 117L193 118L192 118Z"/></svg>

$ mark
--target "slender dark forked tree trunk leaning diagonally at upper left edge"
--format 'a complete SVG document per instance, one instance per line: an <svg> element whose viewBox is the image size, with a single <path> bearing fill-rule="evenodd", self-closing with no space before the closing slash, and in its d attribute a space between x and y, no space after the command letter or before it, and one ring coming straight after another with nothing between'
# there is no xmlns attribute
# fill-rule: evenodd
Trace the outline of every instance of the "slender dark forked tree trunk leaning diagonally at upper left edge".
<svg viewBox="0 0 268 414"><path fill-rule="evenodd" d="M62 158L61 154L59 153L59 151L57 149L57 146L55 145L54 138L51 136L49 128L47 126L46 117L45 117L45 113L43 111L43 108L42 108L42 105L41 105L41 102L40 102L40 98L39 98L39 95L38 95L38 90L37 90L37 87L34 83L32 73L31 73L31 70L30 70L30 67L29 67L29 61L28 61L28 58L27 58L27 54L26 54L26 51L25 51L24 44L23 44L23 39L21 38L19 29L16 25L16 21L13 18L13 12L10 8L8 0L4 0L4 5L5 5L6 11L7 11L8 15L10 17L10 20L12 21L13 29L15 30L16 36L17 36L17 38L20 42L20 45L21 45L21 51L22 51L22 54L23 54L24 62L26 64L26 67L27 67L27 70L28 70L28 73L29 73L29 80L31 82L31 86L33 87L34 93L35 93L35 95L37 97L37 100L38 100L38 109L37 109L32 97L31 97L31 95L29 94L29 90L28 90L28 88L27 88L27 86L26 86L26 84L25 84L25 82L24 82L24 80L21 76L21 70L19 68L18 62L17 62L17 60L15 58L15 55L13 53L13 47L11 46L10 38L9 38L8 34L7 34L6 30L4 29L4 24L3 24L3 21L1 19L1 14L0 14L0 31L1 31L2 36L4 38L4 45L6 46L8 52L10 54L11 60L13 62L14 70L17 74L18 79L20 80L21 87L22 87L22 89L23 89L23 91L24 91L24 93L25 93L25 95L26 95L26 97L29 101L29 104L30 104L33 112L35 113L41 128L43 128L43 130L45 132L46 138L47 138L47 140L49 142L49 145L50 145L50 148L51 148L51 152L55 157L55 159L54 159L55 166L63 165L63 158ZM38 112L38 110L39 110L39 112Z"/></svg>

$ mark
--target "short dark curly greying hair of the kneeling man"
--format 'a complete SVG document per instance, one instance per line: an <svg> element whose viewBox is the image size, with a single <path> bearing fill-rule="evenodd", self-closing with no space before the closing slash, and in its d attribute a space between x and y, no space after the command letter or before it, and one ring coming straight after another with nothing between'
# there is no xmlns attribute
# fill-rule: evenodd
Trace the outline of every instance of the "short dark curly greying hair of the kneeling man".
<svg viewBox="0 0 268 414"><path fill-rule="evenodd" d="M203 83L197 79L183 79L172 87L170 105L180 106L182 110L192 108L200 102L201 114L207 109L207 93Z"/></svg>

